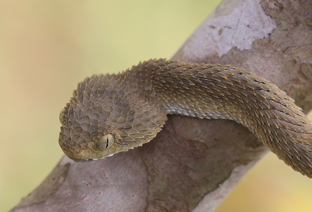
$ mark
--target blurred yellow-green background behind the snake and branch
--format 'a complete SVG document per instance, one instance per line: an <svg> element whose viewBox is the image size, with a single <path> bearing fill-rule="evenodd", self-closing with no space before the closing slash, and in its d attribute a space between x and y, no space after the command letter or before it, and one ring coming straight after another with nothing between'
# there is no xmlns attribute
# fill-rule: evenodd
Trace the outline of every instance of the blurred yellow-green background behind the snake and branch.
<svg viewBox="0 0 312 212"><path fill-rule="evenodd" d="M62 157L59 113L77 82L170 58L219 2L0 0L0 211ZM217 211L310 212L311 188L269 153Z"/></svg>

